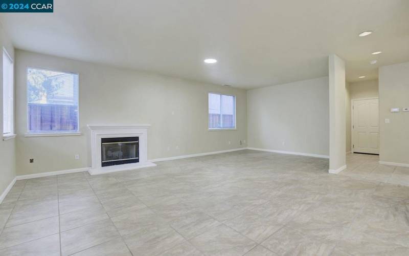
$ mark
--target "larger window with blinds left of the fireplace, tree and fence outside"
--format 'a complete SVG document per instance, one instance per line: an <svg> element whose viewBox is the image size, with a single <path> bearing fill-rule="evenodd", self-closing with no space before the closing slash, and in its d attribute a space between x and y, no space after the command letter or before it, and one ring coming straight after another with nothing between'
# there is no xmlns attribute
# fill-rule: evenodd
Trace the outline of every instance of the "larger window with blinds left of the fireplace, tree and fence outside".
<svg viewBox="0 0 409 256"><path fill-rule="evenodd" d="M27 69L29 133L78 132L78 74Z"/></svg>

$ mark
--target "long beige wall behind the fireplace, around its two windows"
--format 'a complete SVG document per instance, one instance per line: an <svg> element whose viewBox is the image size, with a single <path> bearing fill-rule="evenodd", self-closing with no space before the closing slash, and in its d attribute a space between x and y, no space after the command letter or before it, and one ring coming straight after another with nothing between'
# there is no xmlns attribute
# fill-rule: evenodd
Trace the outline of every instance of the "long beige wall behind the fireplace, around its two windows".
<svg viewBox="0 0 409 256"><path fill-rule="evenodd" d="M247 134L244 90L21 50L15 54L19 175L87 167L87 124L151 124L148 159L246 146L239 144ZM28 66L79 73L81 136L24 137ZM236 95L236 131L208 131L208 92Z"/></svg>

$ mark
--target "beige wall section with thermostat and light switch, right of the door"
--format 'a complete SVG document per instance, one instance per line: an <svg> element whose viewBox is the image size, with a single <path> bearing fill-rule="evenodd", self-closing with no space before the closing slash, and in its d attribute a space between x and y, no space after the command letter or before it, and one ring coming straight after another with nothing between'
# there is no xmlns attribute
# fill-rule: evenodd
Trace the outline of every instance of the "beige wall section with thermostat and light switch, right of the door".
<svg viewBox="0 0 409 256"><path fill-rule="evenodd" d="M393 107L400 108L391 113ZM409 62L379 68L380 161L409 166ZM385 123L385 119L390 123Z"/></svg>

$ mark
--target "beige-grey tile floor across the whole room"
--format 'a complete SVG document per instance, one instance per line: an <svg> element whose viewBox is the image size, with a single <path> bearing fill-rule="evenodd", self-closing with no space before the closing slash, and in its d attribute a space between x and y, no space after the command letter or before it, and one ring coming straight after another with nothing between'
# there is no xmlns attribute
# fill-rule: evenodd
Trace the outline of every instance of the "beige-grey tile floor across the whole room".
<svg viewBox="0 0 409 256"><path fill-rule="evenodd" d="M409 255L409 186L387 183L405 170L348 163L245 150L17 181L0 255Z"/></svg>

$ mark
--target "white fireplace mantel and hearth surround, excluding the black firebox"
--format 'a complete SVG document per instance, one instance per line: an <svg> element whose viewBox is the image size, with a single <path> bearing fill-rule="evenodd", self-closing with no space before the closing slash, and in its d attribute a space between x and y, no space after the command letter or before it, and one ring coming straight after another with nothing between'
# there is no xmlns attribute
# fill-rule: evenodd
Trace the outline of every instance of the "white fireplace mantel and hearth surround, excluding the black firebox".
<svg viewBox="0 0 409 256"><path fill-rule="evenodd" d="M150 124L133 125L87 125L91 131L91 168L90 175L119 172L143 167L156 166L148 161L148 128ZM115 137L139 137L139 163L128 163L102 167L101 139Z"/></svg>

